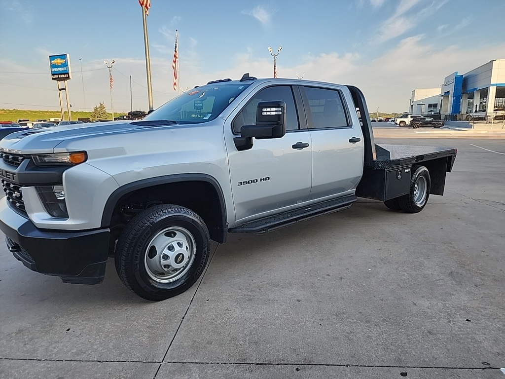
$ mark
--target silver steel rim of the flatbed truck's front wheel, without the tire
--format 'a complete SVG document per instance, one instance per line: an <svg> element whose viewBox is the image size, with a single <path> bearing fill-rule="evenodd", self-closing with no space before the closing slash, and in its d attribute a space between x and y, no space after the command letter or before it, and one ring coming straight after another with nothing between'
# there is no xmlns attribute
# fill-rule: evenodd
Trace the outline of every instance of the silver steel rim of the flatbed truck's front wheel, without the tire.
<svg viewBox="0 0 505 379"><path fill-rule="evenodd" d="M159 283L180 279L193 264L196 243L185 228L171 226L158 232L147 244L144 267L147 275Z"/></svg>

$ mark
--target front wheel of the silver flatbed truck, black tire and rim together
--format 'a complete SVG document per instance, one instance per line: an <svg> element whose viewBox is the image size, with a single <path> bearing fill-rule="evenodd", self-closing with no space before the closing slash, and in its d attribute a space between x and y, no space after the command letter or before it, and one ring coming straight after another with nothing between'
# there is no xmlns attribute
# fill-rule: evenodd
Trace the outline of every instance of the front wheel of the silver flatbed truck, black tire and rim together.
<svg viewBox="0 0 505 379"><path fill-rule="evenodd" d="M181 233L178 233L179 230ZM161 257L165 257L166 260L168 257L165 254L168 250L156 252L156 247L156 256L149 257L154 241L160 236L167 243L172 239L173 243L179 244L181 250L178 251L188 252L187 256L182 254L183 258L180 253L175 252L172 257L174 261L179 259L180 262L187 259L183 267L163 266L180 271L180 277L173 274L173 281L166 281L171 278L163 276L172 271L155 273L147 263L148 259L161 260ZM187 244L180 243L184 239ZM151 301L165 300L188 290L198 280L209 260L209 246L209 230L195 212L177 205L158 205L135 216L121 233L116 247L116 271L124 285L141 298ZM167 249L169 248L167 245Z"/></svg>

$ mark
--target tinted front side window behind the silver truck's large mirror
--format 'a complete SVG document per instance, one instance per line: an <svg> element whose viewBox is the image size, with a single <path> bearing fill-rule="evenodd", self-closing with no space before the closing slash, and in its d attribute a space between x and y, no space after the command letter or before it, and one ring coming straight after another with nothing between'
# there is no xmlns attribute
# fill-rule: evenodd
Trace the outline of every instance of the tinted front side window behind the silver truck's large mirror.
<svg viewBox="0 0 505 379"><path fill-rule="evenodd" d="M254 98L249 100L247 105L242 108L237 117L235 117L232 125L233 132L235 134L240 134L240 128L243 125L255 125L256 107L258 106L258 103L273 100L282 100L286 103L286 129L298 130L298 115L296 113L291 87L288 85L277 85L262 89L255 94Z"/></svg>

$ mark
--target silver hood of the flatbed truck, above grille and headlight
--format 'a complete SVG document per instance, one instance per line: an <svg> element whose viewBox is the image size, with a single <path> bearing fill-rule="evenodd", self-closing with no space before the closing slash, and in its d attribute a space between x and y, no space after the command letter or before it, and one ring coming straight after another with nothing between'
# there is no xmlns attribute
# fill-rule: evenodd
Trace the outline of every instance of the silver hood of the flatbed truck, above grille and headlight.
<svg viewBox="0 0 505 379"><path fill-rule="evenodd" d="M0 140L0 148L9 149L12 153L49 153L53 152L64 140L91 135L125 133L148 127L147 125L130 125L131 122L130 120L122 120L26 129L26 131L9 134Z"/></svg>

